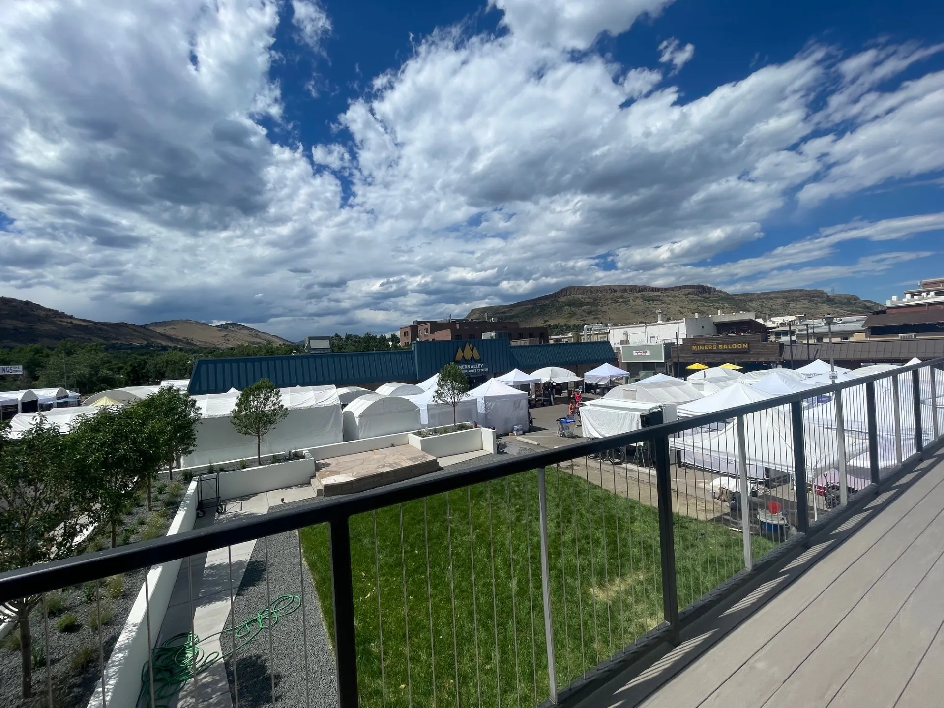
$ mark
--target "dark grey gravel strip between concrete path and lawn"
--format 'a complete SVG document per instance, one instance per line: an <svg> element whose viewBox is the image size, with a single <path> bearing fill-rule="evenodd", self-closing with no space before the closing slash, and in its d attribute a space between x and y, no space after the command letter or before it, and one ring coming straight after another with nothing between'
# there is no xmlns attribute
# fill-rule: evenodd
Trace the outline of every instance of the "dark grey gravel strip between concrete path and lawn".
<svg viewBox="0 0 944 708"><path fill-rule="evenodd" d="M299 501L294 504L279 505L277 509L308 503L311 501ZM249 645L237 651L236 675L234 675L232 660L226 662L233 704L235 705L233 686L238 676L241 708L272 705L274 702L273 683L275 684L275 702L279 705L316 706L317 708L336 706L337 682L334 653L329 644L321 605L314 592L312 576L308 568L300 563L298 534L290 531L269 537L268 588L265 554L266 544L260 539L252 551L243 582L240 584L239 594L235 599L237 622L256 615L269 604L270 600L274 601L280 595L304 597L304 612L299 609L291 615L280 617L273 632L260 632ZM227 619L227 624L231 619L232 615ZM229 651L231 643L224 638L222 647L225 652ZM274 658L275 671L270 676L271 658Z"/></svg>

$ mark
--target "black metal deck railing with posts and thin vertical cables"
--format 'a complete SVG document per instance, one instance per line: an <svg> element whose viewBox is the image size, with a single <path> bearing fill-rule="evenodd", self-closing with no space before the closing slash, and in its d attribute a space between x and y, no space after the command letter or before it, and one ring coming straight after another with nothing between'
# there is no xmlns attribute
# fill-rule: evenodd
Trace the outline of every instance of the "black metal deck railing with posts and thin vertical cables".
<svg viewBox="0 0 944 708"><path fill-rule="evenodd" d="M76 651L50 627L50 598L65 588L52 604L79 607L76 588L94 584L78 609L94 649L80 668L97 666L108 706L120 628L101 621L102 603L122 600L104 581L146 584L176 561L160 608L145 588L147 646L163 649L126 669L143 705L188 691L196 703L228 691L237 706L324 705L334 692L343 708L557 703L672 641L788 539L938 440L942 365L668 423L654 412L610 438L245 508L3 574L0 602L42 595L34 664L49 704Z"/></svg>

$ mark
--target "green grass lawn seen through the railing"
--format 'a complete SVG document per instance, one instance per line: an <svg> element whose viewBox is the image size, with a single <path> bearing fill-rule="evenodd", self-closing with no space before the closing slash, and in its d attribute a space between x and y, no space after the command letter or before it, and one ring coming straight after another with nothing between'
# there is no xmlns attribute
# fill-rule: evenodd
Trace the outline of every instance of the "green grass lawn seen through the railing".
<svg viewBox="0 0 944 708"><path fill-rule="evenodd" d="M662 622L658 511L554 468L547 484L564 686ZM547 699L538 529L535 471L352 517L362 704ZM333 640L328 528L301 540ZM716 523L676 516L675 542L683 607L742 567L741 535Z"/></svg>

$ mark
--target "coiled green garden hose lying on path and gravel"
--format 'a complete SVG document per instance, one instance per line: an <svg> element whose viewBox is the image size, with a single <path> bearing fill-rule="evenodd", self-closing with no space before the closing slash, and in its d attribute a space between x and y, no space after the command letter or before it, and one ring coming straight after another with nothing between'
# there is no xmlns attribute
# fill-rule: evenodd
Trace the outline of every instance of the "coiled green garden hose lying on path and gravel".
<svg viewBox="0 0 944 708"><path fill-rule="evenodd" d="M154 674L154 700L157 708L166 708L168 699L177 694L184 683L203 673L208 668L223 660L226 661L238 649L243 649L249 642L259 636L262 630L269 630L278 624L279 617L291 615L301 607L301 598L297 595L282 595L259 611L259 614L242 624L228 627L222 632L201 639L192 632L181 632L162 642L160 647L151 650L151 661L144 664L141 672L141 703L145 708L151 706L151 673ZM224 634L233 634L233 649L221 653L212 651L207 654L200 647L214 637L222 638ZM237 644L238 642L238 644Z"/></svg>

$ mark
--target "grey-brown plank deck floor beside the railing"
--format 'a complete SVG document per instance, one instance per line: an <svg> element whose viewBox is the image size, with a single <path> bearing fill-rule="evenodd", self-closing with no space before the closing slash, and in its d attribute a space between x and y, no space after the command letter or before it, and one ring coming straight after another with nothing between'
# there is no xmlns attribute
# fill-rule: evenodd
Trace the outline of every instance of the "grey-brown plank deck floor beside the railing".
<svg viewBox="0 0 944 708"><path fill-rule="evenodd" d="M682 638L582 705L944 705L944 457L922 463L779 576Z"/></svg>

